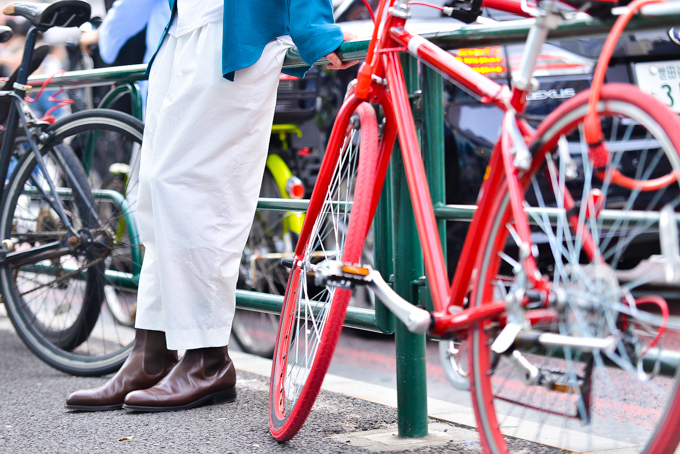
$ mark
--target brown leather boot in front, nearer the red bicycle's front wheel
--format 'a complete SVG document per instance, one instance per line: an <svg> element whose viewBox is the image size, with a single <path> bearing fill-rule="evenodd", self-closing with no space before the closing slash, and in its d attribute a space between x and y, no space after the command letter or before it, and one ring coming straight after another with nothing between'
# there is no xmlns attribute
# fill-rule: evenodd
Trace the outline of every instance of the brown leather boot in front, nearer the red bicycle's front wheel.
<svg viewBox="0 0 680 454"><path fill-rule="evenodd" d="M236 399L236 371L227 347L187 350L179 364L152 388L134 391L123 408L132 411L186 410Z"/></svg>

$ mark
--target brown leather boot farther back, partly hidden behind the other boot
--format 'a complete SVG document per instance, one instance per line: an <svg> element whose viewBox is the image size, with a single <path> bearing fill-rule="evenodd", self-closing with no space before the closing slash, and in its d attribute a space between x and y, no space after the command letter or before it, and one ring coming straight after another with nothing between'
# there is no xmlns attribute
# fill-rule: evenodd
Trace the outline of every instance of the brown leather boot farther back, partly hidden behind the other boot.
<svg viewBox="0 0 680 454"><path fill-rule="evenodd" d="M138 329L127 361L108 382L94 389L76 391L66 399L68 410L119 410L125 396L150 388L177 364L177 352L168 350L165 333Z"/></svg>

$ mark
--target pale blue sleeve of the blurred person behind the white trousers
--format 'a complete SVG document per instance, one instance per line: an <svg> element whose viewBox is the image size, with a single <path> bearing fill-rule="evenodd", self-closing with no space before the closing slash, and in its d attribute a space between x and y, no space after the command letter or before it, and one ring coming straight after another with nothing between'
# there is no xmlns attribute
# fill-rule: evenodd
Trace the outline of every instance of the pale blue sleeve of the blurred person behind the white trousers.
<svg viewBox="0 0 680 454"><path fill-rule="evenodd" d="M99 54L113 63L128 39L144 30L156 0L116 0L99 27Z"/></svg>

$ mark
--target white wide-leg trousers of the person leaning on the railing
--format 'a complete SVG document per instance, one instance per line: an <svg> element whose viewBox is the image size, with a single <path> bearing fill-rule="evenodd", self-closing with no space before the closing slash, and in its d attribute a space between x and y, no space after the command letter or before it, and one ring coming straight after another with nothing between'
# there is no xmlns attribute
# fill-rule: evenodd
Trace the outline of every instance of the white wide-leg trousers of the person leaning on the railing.
<svg viewBox="0 0 680 454"><path fill-rule="evenodd" d="M137 220L136 327L173 350L229 343L288 37L222 77L222 23L168 36L151 67Z"/></svg>

